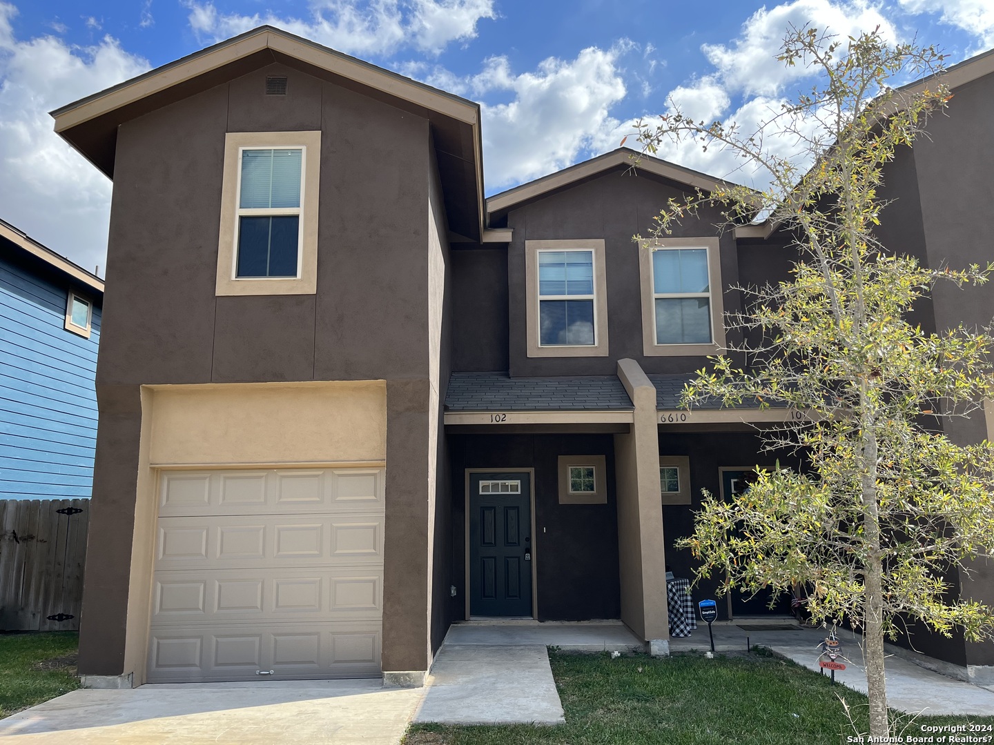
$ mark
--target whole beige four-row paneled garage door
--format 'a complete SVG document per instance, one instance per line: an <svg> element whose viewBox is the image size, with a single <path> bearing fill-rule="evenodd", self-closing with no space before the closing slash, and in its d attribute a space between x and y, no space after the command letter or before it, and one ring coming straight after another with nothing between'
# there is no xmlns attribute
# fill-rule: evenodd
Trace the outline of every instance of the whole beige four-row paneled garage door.
<svg viewBox="0 0 994 745"><path fill-rule="evenodd" d="M382 470L162 472L148 681L379 674L383 528Z"/></svg>

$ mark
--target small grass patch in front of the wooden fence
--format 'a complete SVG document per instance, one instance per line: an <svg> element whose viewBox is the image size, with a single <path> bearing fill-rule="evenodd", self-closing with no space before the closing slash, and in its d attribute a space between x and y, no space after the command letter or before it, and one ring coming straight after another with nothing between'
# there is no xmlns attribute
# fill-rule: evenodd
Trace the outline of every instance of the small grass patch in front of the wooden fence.
<svg viewBox="0 0 994 745"><path fill-rule="evenodd" d="M0 634L0 717L80 687L72 631Z"/></svg>

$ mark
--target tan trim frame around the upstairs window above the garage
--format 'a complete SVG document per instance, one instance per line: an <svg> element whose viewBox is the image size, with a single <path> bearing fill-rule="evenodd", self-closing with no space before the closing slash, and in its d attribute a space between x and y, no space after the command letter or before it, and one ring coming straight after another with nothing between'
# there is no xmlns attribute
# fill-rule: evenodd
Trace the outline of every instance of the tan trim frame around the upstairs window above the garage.
<svg viewBox="0 0 994 745"><path fill-rule="evenodd" d="M238 194L241 148L294 148L304 151L298 276L237 279ZM225 135L225 175L221 192L216 295L313 295L317 292L317 211L320 189L321 132L229 132Z"/></svg>

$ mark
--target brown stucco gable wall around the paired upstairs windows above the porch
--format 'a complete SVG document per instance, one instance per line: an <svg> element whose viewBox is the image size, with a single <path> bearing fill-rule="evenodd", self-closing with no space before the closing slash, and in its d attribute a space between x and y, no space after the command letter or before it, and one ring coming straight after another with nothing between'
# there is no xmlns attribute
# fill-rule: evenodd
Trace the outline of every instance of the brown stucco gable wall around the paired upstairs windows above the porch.
<svg viewBox="0 0 994 745"><path fill-rule="evenodd" d="M650 357L642 355L642 311L639 297L638 246L635 233L646 234L652 218L670 198L682 192L646 174L625 170L609 172L532 204L511 211L508 226L509 370L513 376L614 374L617 361L630 358L646 373L686 373L701 368L704 357ZM675 225L674 237L718 234L717 211L702 210L695 220ZM603 238L607 279L609 349L599 358L529 358L526 353L525 241L568 238ZM722 279L726 287L739 278L735 238L727 230L721 238ZM739 293L725 293L725 310L740 307ZM736 337L730 336L729 341Z"/></svg>

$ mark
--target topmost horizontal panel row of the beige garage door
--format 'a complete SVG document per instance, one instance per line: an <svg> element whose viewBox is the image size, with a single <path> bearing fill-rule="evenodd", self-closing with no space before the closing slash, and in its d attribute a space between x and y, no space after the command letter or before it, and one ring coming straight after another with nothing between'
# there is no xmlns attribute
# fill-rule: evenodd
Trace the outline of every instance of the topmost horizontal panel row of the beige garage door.
<svg viewBox="0 0 994 745"><path fill-rule="evenodd" d="M159 517L382 512L382 469L164 471Z"/></svg>

